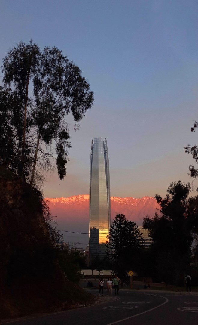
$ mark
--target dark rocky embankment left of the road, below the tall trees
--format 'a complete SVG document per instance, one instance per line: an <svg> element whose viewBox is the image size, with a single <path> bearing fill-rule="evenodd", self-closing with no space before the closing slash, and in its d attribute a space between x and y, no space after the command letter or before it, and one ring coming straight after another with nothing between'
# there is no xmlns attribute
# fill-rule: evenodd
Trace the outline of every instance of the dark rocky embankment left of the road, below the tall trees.
<svg viewBox="0 0 198 325"><path fill-rule="evenodd" d="M42 200L39 191L0 167L1 319L93 302L62 272Z"/></svg>

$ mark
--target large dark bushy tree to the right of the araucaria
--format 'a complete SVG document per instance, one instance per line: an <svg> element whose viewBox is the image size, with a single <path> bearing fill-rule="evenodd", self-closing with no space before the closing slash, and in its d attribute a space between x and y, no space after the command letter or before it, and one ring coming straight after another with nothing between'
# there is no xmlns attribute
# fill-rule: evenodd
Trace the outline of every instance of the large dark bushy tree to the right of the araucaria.
<svg viewBox="0 0 198 325"><path fill-rule="evenodd" d="M166 198L155 198L161 206L160 215L143 219L144 229L148 229L153 239L150 250L155 256L155 266L159 281L176 284L183 277L191 261L192 229L196 225L197 214L190 212L188 194L190 184L171 183Z"/></svg>

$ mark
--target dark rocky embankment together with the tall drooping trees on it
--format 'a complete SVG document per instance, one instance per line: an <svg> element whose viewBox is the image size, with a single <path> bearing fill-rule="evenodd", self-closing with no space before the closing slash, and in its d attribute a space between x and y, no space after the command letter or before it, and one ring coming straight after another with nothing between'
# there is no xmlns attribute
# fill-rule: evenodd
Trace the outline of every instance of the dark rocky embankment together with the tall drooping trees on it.
<svg viewBox="0 0 198 325"><path fill-rule="evenodd" d="M64 310L93 297L75 283L83 257L57 245L43 198L43 175L67 175L67 115L78 130L93 92L56 47L19 42L2 65L0 86L0 318Z"/></svg>

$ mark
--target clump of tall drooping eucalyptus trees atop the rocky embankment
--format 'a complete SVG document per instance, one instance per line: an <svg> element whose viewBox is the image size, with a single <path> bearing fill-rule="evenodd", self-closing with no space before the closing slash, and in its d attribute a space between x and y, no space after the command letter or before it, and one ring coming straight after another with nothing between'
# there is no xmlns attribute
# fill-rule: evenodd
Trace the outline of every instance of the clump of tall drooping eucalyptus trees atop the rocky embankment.
<svg viewBox="0 0 198 325"><path fill-rule="evenodd" d="M4 84L12 88L12 91L0 89L3 105L7 105L10 112L4 128L7 128L7 141L12 152L6 156L6 161L0 153L0 164L35 186L41 180L39 170L53 168L56 160L59 178L63 179L67 174L67 148L71 148L66 116L71 112L78 127L85 111L93 105L93 92L87 80L81 76L79 67L59 49L45 47L41 51L32 41L29 44L20 42L10 49L2 68ZM29 95L30 85L32 97ZM13 102L14 98L16 102ZM13 119L16 107L19 112L17 123ZM5 111L6 108L4 115ZM1 115L0 122L2 127ZM10 134L9 128L12 130ZM0 136L1 142L5 135Z"/></svg>

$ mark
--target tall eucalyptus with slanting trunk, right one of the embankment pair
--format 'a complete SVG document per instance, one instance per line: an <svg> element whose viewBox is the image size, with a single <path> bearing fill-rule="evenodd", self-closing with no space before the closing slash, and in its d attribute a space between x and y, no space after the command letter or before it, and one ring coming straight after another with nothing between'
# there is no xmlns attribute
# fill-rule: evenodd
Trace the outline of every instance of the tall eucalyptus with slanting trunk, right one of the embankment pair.
<svg viewBox="0 0 198 325"><path fill-rule="evenodd" d="M41 141L46 145L56 142L56 165L60 179L66 175L69 142L65 116L71 111L78 122L93 104L93 92L81 76L81 71L56 47L45 47L37 66L34 86L33 124L38 130L34 163L31 173L32 185ZM48 163L48 162L47 162Z"/></svg>

